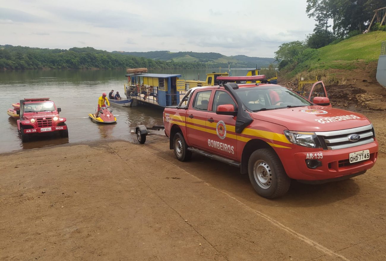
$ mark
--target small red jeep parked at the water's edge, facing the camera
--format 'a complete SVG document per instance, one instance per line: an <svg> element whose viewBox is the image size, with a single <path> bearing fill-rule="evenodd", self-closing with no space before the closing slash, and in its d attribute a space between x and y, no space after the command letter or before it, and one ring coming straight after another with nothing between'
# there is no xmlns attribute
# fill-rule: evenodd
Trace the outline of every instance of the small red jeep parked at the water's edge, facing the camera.
<svg viewBox="0 0 386 261"><path fill-rule="evenodd" d="M61 108L49 98L34 98L20 100L20 110L17 114L17 129L22 142L29 140L31 135L58 132L60 137L68 137L66 118L59 117Z"/></svg>

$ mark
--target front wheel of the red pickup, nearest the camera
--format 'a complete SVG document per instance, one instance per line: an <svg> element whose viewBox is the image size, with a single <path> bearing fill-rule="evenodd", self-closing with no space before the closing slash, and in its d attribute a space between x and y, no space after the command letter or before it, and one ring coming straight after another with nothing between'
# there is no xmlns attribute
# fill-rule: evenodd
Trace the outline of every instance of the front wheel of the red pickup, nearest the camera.
<svg viewBox="0 0 386 261"><path fill-rule="evenodd" d="M249 157L248 174L253 188L264 198L284 195L291 184L291 179L273 149L254 151Z"/></svg>

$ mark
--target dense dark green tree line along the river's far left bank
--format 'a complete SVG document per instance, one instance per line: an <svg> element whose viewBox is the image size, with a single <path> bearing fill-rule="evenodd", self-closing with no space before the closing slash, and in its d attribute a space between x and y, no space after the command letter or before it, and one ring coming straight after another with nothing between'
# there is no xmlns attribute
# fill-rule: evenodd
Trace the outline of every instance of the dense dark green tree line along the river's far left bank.
<svg viewBox="0 0 386 261"><path fill-rule="evenodd" d="M0 69L210 69L227 68L226 63L159 61L143 57L109 53L93 47L43 49L0 46Z"/></svg>

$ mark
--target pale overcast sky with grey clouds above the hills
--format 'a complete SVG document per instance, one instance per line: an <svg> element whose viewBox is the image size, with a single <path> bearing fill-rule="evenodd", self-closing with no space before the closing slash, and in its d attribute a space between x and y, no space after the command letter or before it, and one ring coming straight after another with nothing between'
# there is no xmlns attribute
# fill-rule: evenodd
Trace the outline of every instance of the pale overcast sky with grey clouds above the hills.
<svg viewBox="0 0 386 261"><path fill-rule="evenodd" d="M273 57L305 39L306 0L0 0L0 44Z"/></svg>

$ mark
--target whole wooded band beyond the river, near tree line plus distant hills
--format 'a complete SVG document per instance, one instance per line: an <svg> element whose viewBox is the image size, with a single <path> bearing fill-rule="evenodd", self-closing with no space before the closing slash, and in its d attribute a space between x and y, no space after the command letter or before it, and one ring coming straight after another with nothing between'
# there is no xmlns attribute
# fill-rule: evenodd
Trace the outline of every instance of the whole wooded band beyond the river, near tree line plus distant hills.
<svg viewBox="0 0 386 261"><path fill-rule="evenodd" d="M180 57L187 54L198 57L196 61L174 61L171 56L166 57L168 51L155 51L147 53L107 52L93 47L73 47L70 49L43 49L36 47L23 47L3 45L0 46L0 69L212 69L228 68L226 62L215 62L213 59L226 58L217 53L180 52ZM134 53L133 53L134 54ZM137 57L140 56L140 57ZM163 56L163 58L159 58ZM175 55L173 56L176 57ZM274 58L261 58L256 60L243 56L240 62L232 60L232 68L251 68L254 66L267 67L273 63ZM249 58L249 60L248 60ZM165 60L167 59L167 60ZM266 59L266 60L264 60ZM227 61L227 59L225 59ZM256 62L256 63L255 63ZM259 63L258 63L259 62Z"/></svg>

